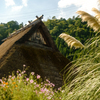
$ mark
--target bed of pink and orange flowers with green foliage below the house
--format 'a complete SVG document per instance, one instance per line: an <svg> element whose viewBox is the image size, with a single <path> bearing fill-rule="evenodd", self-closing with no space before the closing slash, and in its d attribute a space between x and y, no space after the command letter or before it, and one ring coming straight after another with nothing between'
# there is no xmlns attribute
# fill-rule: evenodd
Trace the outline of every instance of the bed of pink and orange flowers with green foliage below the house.
<svg viewBox="0 0 100 100"><path fill-rule="evenodd" d="M26 71L16 74L0 79L0 100L60 100L56 97L55 85L48 79L42 82L41 76L34 72L29 77Z"/></svg>

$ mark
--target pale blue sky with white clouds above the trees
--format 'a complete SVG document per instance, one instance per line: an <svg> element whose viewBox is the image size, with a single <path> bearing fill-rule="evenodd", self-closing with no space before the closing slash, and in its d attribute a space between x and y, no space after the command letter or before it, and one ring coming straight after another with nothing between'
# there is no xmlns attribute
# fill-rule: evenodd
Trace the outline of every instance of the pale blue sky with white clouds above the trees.
<svg viewBox="0 0 100 100"><path fill-rule="evenodd" d="M14 20L26 24L36 15L44 15L44 20L72 18L76 11L83 10L93 14L93 7L98 9L98 0L0 0L0 23Z"/></svg>

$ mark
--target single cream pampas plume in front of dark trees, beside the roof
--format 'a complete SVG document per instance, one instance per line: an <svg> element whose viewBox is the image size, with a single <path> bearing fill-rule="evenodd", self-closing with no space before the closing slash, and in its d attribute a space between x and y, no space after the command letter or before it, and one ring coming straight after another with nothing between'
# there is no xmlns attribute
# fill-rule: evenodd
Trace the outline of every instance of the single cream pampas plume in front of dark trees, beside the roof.
<svg viewBox="0 0 100 100"><path fill-rule="evenodd" d="M68 46L70 46L71 48L72 47L75 47L75 49L77 48L84 48L84 45L76 40L74 37L66 34L66 33L62 33L59 35L60 38L64 39L64 41L68 44Z"/></svg>

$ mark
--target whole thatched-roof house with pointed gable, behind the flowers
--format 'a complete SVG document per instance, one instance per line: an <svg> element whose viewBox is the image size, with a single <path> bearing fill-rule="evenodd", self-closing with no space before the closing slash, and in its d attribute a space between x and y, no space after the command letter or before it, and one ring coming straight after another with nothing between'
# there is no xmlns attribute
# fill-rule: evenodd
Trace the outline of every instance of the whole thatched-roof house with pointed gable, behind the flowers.
<svg viewBox="0 0 100 100"><path fill-rule="evenodd" d="M49 78L56 87L62 86L59 72L69 63L58 51L49 30L41 21L43 16L16 30L0 45L0 78L9 72L29 66L28 74L35 72Z"/></svg>

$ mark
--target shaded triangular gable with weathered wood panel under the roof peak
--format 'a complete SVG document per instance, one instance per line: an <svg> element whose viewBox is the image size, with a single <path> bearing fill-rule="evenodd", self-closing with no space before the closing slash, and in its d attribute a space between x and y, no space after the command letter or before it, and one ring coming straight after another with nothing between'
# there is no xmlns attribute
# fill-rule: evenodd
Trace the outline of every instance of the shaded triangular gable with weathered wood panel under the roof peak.
<svg viewBox="0 0 100 100"><path fill-rule="evenodd" d="M32 26L32 28L23 37L16 41L16 43L29 43L31 45L32 43L35 43L58 51L47 27L42 21Z"/></svg>

